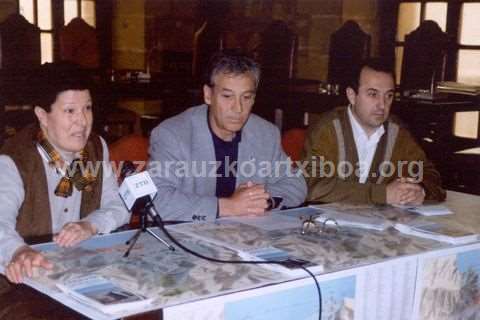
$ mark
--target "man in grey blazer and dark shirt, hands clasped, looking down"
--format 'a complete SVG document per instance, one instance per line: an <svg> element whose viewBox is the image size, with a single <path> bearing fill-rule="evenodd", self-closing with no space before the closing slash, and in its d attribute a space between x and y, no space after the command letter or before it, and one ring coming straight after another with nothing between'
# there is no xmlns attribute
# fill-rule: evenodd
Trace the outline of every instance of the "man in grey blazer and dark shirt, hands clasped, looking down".
<svg viewBox="0 0 480 320"><path fill-rule="evenodd" d="M243 55L218 53L207 75L205 104L152 131L149 173L162 217L212 221L302 204L305 180L282 150L279 130L251 114L258 65Z"/></svg>

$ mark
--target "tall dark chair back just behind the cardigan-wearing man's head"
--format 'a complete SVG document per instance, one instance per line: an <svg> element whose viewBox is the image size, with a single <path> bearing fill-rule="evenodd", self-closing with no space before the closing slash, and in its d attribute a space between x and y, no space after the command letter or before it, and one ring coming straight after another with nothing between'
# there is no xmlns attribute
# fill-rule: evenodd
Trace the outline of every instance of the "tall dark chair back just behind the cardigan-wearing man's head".
<svg viewBox="0 0 480 320"><path fill-rule="evenodd" d="M370 55L370 35L357 22L346 21L330 36L328 82L338 84L340 93L351 83L362 60Z"/></svg>

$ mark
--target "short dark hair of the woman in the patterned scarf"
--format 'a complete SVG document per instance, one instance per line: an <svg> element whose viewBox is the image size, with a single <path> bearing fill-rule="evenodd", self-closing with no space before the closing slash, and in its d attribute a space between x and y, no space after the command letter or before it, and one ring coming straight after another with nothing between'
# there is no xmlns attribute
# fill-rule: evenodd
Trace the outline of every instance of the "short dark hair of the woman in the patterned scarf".
<svg viewBox="0 0 480 320"><path fill-rule="evenodd" d="M47 112L57 96L68 90L89 90L93 84L87 70L72 62L44 63L33 74L31 80L32 102Z"/></svg>

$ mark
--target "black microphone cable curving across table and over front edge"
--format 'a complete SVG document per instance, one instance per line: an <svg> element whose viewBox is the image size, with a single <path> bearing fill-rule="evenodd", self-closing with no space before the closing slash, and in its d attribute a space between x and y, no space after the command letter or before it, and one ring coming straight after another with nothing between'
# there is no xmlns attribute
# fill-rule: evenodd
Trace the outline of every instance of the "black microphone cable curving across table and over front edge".
<svg viewBox="0 0 480 320"><path fill-rule="evenodd" d="M153 207L153 203L152 201L149 202L148 204L149 206ZM284 263L282 261L255 261L255 260L223 260L223 259L217 259L217 258L212 258L212 257L208 257L208 256L204 256L203 254L201 253L198 253L198 252L195 252L193 251L192 249L184 246L183 244L181 244L177 239L175 239L175 237L173 237L170 232L165 228L165 224L162 220L162 218L160 217L159 214L157 215L152 215L150 212L149 212L149 215L151 216L151 218L156 222L156 224L158 225L158 227L162 230L162 232L167 236L167 238L170 239L170 241L172 241L174 244L176 244L179 248L183 249L184 251L190 253L191 255L197 257L197 258L200 258L200 259L203 259L203 260L207 260L207 261L211 261L211 262L217 262L217 263L229 263L229 264L252 264L252 265L258 265L258 264L276 264L276 265L280 265L280 266L284 266ZM290 262L291 263L291 262ZM304 267L303 265L301 265L300 263L297 263L297 266L304 270L312 279L313 281L315 282L315 287L317 289L317 293L318 293L318 320L321 320L322 319L322 290L320 289L320 284L318 283L318 280L317 278L315 277L315 275L310 271L308 270L306 267Z"/></svg>

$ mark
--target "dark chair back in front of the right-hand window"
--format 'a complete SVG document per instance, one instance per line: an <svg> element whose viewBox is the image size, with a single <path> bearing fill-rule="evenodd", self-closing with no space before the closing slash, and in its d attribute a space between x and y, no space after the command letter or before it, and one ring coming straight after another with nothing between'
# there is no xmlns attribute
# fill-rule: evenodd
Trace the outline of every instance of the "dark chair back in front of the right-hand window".
<svg viewBox="0 0 480 320"><path fill-rule="evenodd" d="M431 90L444 80L448 36L435 21L425 20L405 36L400 86L402 91Z"/></svg>

